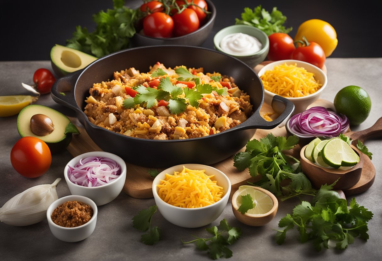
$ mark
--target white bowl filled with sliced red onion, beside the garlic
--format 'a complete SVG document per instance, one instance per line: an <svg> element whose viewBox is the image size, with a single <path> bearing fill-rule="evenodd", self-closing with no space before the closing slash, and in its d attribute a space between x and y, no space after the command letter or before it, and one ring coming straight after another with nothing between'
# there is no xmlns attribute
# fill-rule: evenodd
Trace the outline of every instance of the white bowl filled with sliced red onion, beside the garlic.
<svg viewBox="0 0 382 261"><path fill-rule="evenodd" d="M64 177L72 195L91 198L100 206L121 193L126 180L126 163L105 151L87 152L66 164Z"/></svg>

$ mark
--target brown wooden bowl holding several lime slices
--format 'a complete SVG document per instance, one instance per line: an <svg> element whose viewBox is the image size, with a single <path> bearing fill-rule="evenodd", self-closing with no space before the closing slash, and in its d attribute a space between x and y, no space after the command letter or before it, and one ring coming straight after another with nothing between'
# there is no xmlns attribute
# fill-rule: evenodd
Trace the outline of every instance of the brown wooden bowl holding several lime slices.
<svg viewBox="0 0 382 261"><path fill-rule="evenodd" d="M312 185L316 188L320 188L321 185L332 184L337 179L338 182L334 185L334 189L346 190L353 187L361 178L363 167L363 153L359 151L353 145L350 147L358 154L359 162L351 169L341 170L332 168L323 168L312 163L309 159L305 158L304 150L305 145L300 151L301 157L301 171L309 178Z"/></svg>

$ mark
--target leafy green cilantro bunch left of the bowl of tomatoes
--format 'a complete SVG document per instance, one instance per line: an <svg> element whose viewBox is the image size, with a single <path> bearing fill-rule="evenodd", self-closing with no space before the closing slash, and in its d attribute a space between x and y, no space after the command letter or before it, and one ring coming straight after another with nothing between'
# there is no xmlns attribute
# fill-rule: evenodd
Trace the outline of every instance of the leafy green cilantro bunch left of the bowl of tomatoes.
<svg viewBox="0 0 382 261"><path fill-rule="evenodd" d="M128 48L129 39L136 32L137 10L126 8L124 0L113 0L113 4L114 9L93 15L93 21L97 24L94 32L89 33L86 27L76 26L66 46L95 57Z"/></svg>

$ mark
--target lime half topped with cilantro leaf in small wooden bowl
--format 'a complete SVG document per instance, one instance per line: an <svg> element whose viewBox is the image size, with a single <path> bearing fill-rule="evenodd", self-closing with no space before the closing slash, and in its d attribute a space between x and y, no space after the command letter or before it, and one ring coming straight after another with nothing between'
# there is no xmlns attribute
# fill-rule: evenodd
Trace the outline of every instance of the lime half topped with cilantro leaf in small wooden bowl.
<svg viewBox="0 0 382 261"><path fill-rule="evenodd" d="M256 216L256 215L263 215L265 213L268 213L272 207L273 207L273 201L272 198L270 198L267 194L264 192L257 190L253 186L240 186L239 187L239 195L236 198L236 202L234 204L236 206L241 205L241 197L240 196L245 196L245 195L251 195L253 203L255 203L255 206L253 209L249 209L246 213Z"/></svg>

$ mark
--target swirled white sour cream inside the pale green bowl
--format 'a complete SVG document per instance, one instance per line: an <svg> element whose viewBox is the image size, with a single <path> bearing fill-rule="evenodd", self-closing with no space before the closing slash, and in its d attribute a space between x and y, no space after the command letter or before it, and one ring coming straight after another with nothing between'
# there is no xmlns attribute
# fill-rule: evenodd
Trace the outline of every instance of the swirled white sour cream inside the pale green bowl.
<svg viewBox="0 0 382 261"><path fill-rule="evenodd" d="M220 48L230 55L250 55L261 50L262 44L248 34L228 34L220 41Z"/></svg>

